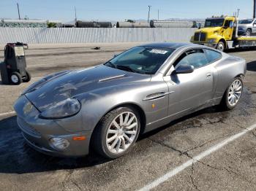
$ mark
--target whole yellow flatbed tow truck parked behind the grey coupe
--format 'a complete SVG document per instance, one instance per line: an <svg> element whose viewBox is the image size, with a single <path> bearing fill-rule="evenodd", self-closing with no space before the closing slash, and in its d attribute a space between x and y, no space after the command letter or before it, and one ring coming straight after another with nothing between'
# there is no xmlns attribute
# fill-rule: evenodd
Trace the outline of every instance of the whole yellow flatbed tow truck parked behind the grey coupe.
<svg viewBox="0 0 256 191"><path fill-rule="evenodd" d="M256 36L238 36L238 17L211 17L206 19L204 28L195 31L190 42L224 51L256 47Z"/></svg>

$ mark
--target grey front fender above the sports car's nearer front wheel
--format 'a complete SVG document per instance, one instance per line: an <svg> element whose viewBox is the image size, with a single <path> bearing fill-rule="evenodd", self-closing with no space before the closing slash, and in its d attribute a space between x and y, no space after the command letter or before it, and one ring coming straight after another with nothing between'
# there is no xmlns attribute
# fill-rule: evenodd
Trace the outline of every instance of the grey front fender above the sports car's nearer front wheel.
<svg viewBox="0 0 256 191"><path fill-rule="evenodd" d="M105 87L78 95L77 98L82 105L80 113L83 130L93 130L105 114L122 104L139 106L146 116L146 123L165 117L168 96L154 101L143 101L143 99L151 93L167 91L165 82L141 82ZM152 107L152 104L156 107Z"/></svg>

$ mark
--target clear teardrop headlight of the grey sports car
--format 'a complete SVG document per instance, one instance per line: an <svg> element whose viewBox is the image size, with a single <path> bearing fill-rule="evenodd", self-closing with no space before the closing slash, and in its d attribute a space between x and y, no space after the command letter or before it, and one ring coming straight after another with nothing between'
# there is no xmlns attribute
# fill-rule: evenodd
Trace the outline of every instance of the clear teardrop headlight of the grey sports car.
<svg viewBox="0 0 256 191"><path fill-rule="evenodd" d="M43 111L39 117L45 119L60 119L71 117L80 111L81 105L75 98L67 98Z"/></svg>

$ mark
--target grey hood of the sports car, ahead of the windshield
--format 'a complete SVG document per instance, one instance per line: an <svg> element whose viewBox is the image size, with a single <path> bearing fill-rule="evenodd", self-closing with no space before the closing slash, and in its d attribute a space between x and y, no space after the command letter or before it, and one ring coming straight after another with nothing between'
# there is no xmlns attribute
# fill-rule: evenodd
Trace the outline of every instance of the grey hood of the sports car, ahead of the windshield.
<svg viewBox="0 0 256 191"><path fill-rule="evenodd" d="M81 93L150 79L151 75L148 74L132 73L99 65L45 77L31 85L23 94L42 112L60 101L74 98Z"/></svg>

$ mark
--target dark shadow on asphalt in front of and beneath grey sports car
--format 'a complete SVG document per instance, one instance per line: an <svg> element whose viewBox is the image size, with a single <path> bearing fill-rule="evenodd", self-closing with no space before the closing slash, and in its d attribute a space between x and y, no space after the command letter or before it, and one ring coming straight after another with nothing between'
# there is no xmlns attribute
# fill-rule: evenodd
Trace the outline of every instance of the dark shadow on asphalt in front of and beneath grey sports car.
<svg viewBox="0 0 256 191"><path fill-rule="evenodd" d="M140 135L138 144L143 139L155 135L166 128L171 128L173 131L178 130L179 126L176 125L178 122L197 117L200 114L214 114L217 112L218 110L215 107L211 107L190 114L187 117L182 117L179 120L170 122L168 125L157 128L157 130L152 130L149 133ZM176 128L170 127L173 125L175 125ZM180 129L181 128L182 127L180 127ZM189 126L187 128L189 128ZM192 126L190 126L190 128L192 128ZM16 116L0 120L0 173L26 174L61 169L85 168L107 163L108 161L110 160L97 155L92 150L90 151L90 155L86 157L52 157L44 155L31 149L31 147L26 144L18 128Z"/></svg>

